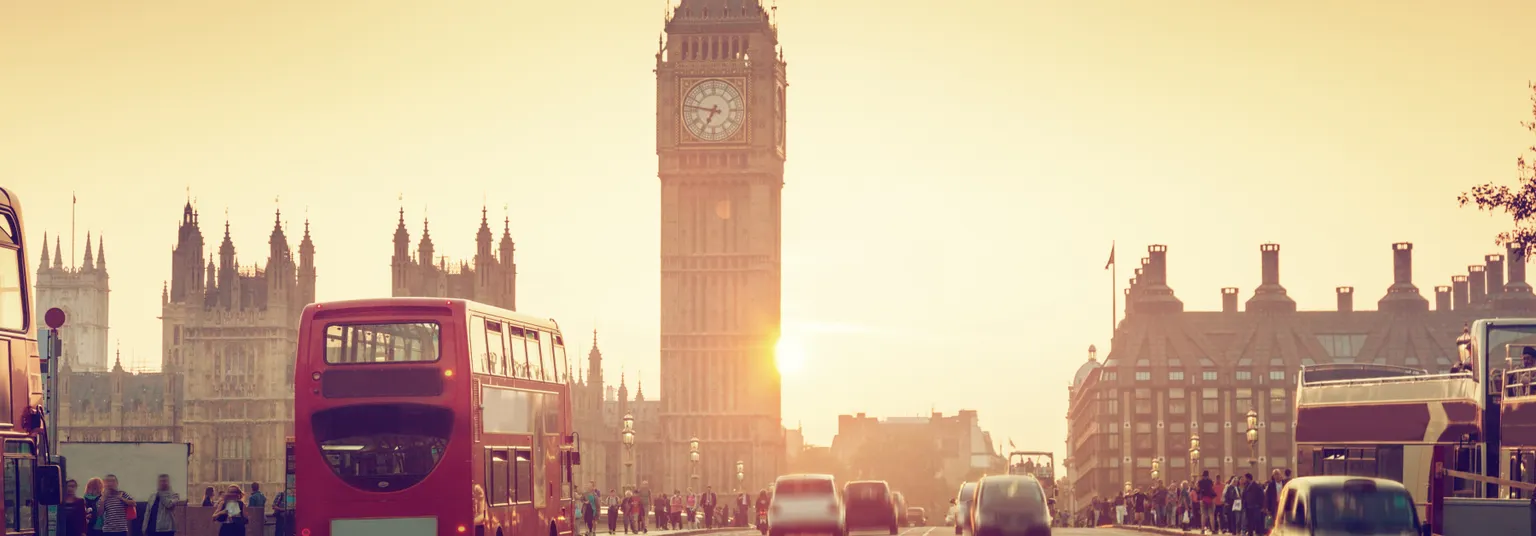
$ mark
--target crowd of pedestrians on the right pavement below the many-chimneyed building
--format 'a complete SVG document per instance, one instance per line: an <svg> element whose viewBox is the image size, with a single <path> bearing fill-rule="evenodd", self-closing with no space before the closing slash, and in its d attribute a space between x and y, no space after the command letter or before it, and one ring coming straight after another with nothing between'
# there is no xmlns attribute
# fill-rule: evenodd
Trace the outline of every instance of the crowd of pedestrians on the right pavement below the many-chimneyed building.
<svg viewBox="0 0 1536 536"><path fill-rule="evenodd" d="M1080 511L1074 524L1097 525L1146 525L1164 528L1198 530L1203 534L1263 536L1273 525L1279 507L1279 491L1290 482L1290 470L1273 470L1267 481L1256 481L1253 473L1232 476L1226 481L1210 471L1200 473L1195 482L1175 485L1154 482L1150 488L1127 490L1111 499L1094 498L1089 508Z"/></svg>

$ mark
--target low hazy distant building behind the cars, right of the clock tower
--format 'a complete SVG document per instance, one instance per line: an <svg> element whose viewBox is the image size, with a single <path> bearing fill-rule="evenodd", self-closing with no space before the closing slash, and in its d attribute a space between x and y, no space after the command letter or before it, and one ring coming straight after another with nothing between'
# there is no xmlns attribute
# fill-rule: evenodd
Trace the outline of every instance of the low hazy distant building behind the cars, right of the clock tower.
<svg viewBox="0 0 1536 536"><path fill-rule="evenodd" d="M839 415L833 456L851 467L860 448L871 441L880 441L889 428L897 427L920 430L934 438L940 452L942 478L952 487L958 487L971 471L991 470L1005 462L992 444L992 435L982 430L975 410L960 410L952 416L934 412L929 416L885 419L865 413Z"/></svg>

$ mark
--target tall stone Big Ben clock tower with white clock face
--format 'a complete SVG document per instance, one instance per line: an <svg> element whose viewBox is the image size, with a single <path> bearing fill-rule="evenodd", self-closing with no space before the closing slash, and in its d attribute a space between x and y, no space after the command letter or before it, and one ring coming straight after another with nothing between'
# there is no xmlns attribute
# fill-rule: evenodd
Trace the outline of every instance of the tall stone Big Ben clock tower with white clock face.
<svg viewBox="0 0 1536 536"><path fill-rule="evenodd" d="M762 488L779 412L785 63L760 0L682 0L656 54L665 488ZM697 461L691 441L697 439ZM725 501L725 499L722 499Z"/></svg>

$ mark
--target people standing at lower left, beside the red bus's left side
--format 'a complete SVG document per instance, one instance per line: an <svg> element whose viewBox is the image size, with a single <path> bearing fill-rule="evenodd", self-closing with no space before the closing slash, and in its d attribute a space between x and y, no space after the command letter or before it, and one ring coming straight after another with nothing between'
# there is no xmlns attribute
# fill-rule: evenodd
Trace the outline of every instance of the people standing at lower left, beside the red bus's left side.
<svg viewBox="0 0 1536 536"><path fill-rule="evenodd" d="M267 498L261 493L260 484L250 484L250 496L238 485L230 485L223 495L215 496L214 487L204 490L203 507L214 507L212 521L218 525L218 536L244 536L246 525L253 518L252 511L263 511ZM143 507L140 507L140 502ZM86 481L84 493L80 493L78 481L65 482L63 504L58 505L60 536L127 536L137 525L144 536L174 536L181 527L177 525L175 508L186 505L181 495L170 488L170 476L160 475L155 482L155 493L149 498L135 499L118 488L117 475L92 478ZM275 536L287 536L292 516L287 516L290 501L281 491L269 514L275 521Z"/></svg>

